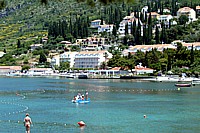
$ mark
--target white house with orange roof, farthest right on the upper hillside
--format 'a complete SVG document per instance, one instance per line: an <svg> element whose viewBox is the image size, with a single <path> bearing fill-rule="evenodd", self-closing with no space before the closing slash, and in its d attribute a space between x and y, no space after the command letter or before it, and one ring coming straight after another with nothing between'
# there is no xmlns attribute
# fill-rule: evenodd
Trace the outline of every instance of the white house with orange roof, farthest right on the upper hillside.
<svg viewBox="0 0 200 133"><path fill-rule="evenodd" d="M181 15L186 15L189 18L189 22L196 20L196 12L194 9L190 7L183 7L177 11L177 17L179 18Z"/></svg>

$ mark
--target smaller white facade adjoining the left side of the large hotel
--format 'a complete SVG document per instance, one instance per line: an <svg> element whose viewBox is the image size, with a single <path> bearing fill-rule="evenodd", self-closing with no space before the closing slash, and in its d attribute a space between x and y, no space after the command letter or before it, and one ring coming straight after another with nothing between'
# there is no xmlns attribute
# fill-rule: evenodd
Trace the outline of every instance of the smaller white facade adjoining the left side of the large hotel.
<svg viewBox="0 0 200 133"><path fill-rule="evenodd" d="M65 52L60 55L60 63L61 62L69 62L70 63L70 68L74 67L74 59L75 55L78 52Z"/></svg>

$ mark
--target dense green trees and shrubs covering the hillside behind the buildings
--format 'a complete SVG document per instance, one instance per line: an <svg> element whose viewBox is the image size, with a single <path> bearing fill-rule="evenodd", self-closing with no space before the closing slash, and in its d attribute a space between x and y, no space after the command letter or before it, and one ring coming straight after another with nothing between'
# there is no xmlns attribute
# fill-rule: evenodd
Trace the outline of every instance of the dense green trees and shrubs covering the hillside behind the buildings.
<svg viewBox="0 0 200 133"><path fill-rule="evenodd" d="M4 51L4 55L0 59L1 65L28 65L30 61L40 61L41 64L46 63L44 55L48 57L50 50L58 50L62 53L65 51L63 46L59 44L62 40L74 42L77 38L85 38L92 36L94 29L90 28L90 22L95 19L101 19L107 24L115 24L116 31L123 17L130 15L131 12L138 12L142 7L147 5L149 12L160 10L160 14L165 14L163 9L170 9L169 14L176 15L179 8L189 6L193 9L200 4L199 0L151 0L151 1L131 1L124 3L123 1L100 1L95 5L88 0L62 0L60 1L41 1L35 0L7 0L1 3L0 12L0 51ZM137 14L137 13L136 13ZM198 16L199 14L197 14ZM106 66L122 67L142 62L144 65L154 68L157 71L189 71L190 73L200 72L197 69L200 64L198 51L186 50L180 46L177 51L166 50L159 53L153 50L149 53L138 53L133 57L121 57L120 52L129 45L148 45L158 43L171 43L173 40L183 40L185 42L200 41L200 21L185 24L184 19L176 20L175 26L166 28L162 26L162 31L156 31L152 34L152 27L155 26L155 20L149 18L140 18L143 24L146 24L144 36L141 36L139 26L132 27L131 34L126 33L124 38L118 38L117 33L100 34L108 38L110 44L118 43L119 48L109 50L114 54L114 58ZM49 40L44 44L43 49L38 49L30 53L30 45L33 43L42 43L41 39L48 36ZM73 48L74 51L79 48ZM14 56L13 56L14 55ZM157 56L155 56L157 55ZM158 56L159 55L159 56ZM183 58L180 58L180 57ZM173 57L173 58L172 58ZM156 59L155 59L156 58ZM179 69L177 68L190 68ZM195 71L194 71L195 70Z"/></svg>

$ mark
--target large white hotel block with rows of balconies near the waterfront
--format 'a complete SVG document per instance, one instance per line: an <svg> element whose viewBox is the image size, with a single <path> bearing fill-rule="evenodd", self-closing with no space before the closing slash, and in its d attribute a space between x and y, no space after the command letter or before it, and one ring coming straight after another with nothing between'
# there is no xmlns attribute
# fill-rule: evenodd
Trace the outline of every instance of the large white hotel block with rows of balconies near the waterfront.
<svg viewBox="0 0 200 133"><path fill-rule="evenodd" d="M107 54L107 57L105 56ZM102 62L112 58L108 51L82 51L75 55L75 68L97 68Z"/></svg>

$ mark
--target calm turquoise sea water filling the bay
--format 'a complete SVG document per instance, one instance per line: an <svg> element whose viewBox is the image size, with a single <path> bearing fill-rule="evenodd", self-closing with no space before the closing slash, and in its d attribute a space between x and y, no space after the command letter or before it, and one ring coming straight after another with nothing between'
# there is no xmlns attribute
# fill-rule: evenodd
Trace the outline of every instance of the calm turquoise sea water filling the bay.
<svg viewBox="0 0 200 133"><path fill-rule="evenodd" d="M26 112L31 133L200 132L200 85L179 91L170 82L22 77L0 77L0 85L0 133L25 132ZM86 90L91 103L71 103Z"/></svg>

